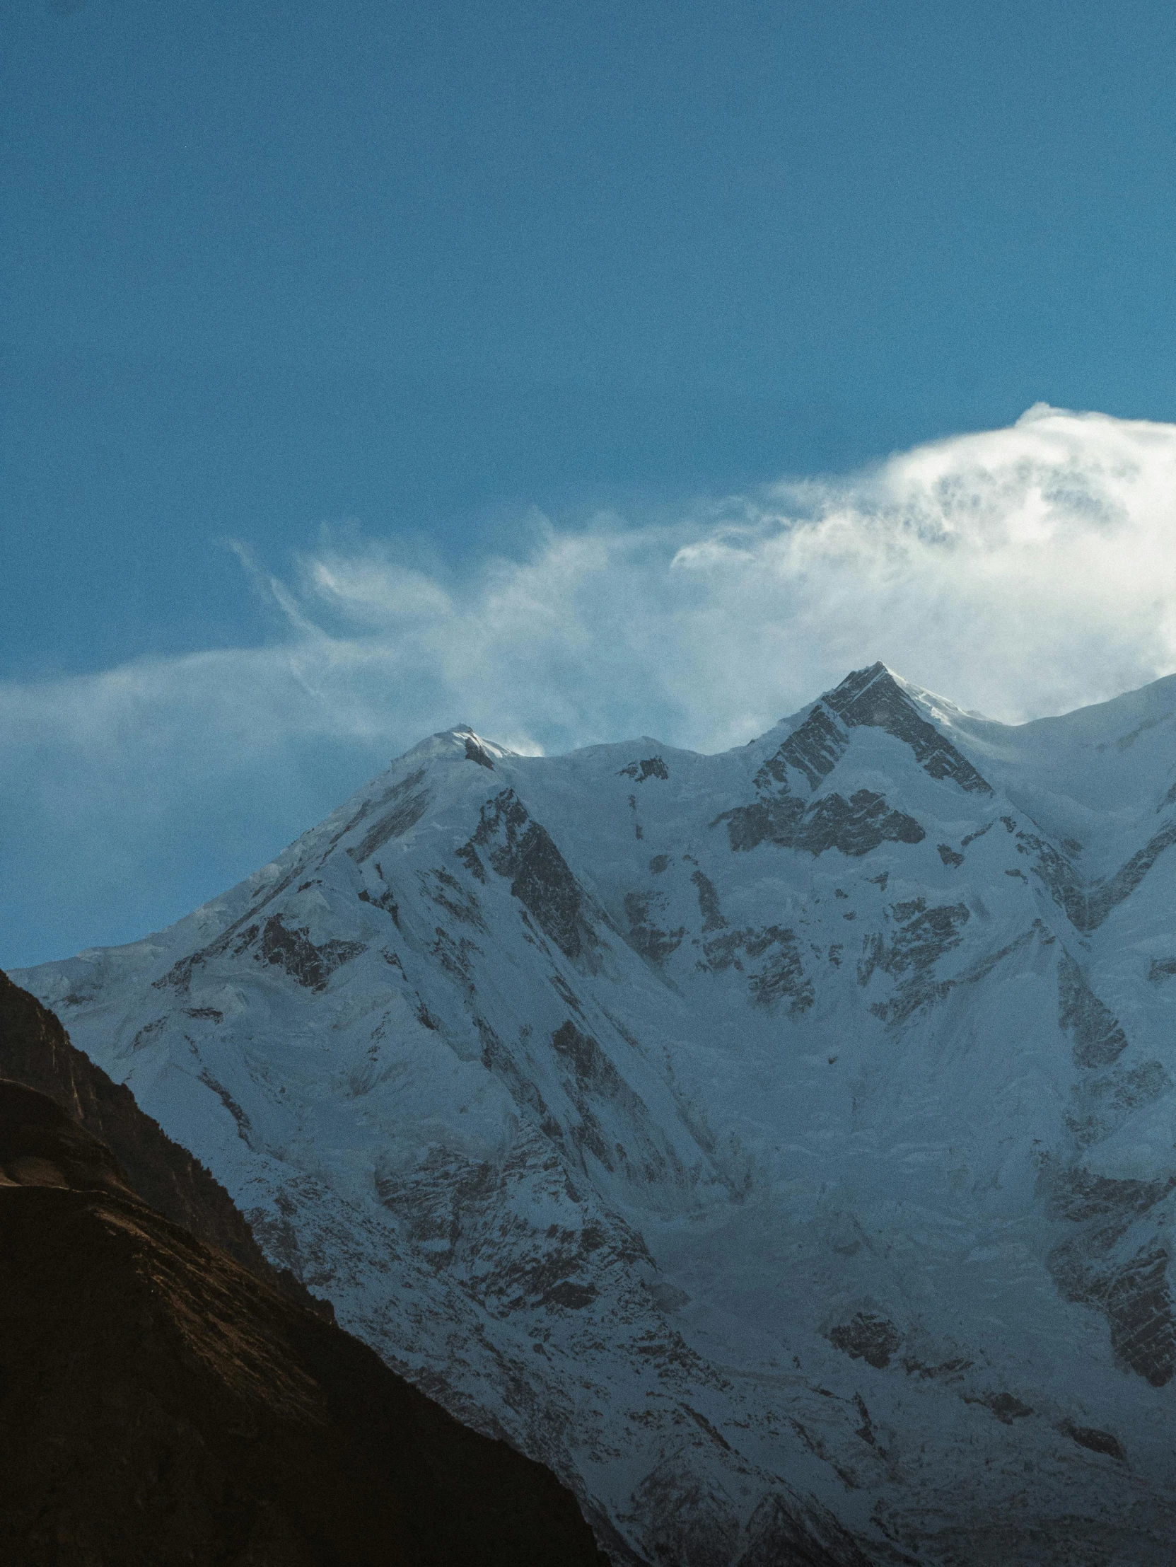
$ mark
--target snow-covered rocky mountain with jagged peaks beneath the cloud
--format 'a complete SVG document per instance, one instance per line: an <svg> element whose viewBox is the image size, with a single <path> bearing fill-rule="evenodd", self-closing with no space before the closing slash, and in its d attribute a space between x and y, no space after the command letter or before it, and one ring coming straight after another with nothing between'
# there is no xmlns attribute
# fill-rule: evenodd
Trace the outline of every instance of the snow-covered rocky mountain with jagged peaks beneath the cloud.
<svg viewBox="0 0 1176 1567"><path fill-rule="evenodd" d="M435 735L16 978L617 1562L1148 1567L1174 843L1176 677L1007 727L874 664L716 757Z"/></svg>

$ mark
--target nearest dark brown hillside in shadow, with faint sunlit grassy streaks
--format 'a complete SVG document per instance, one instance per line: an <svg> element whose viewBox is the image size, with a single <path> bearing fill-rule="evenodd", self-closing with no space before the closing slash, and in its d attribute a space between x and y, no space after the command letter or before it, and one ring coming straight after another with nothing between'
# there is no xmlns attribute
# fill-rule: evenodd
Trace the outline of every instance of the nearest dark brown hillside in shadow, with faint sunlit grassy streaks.
<svg viewBox="0 0 1176 1567"><path fill-rule="evenodd" d="M3 1567L603 1567L545 1468L150 1208L8 1080L0 1257Z"/></svg>

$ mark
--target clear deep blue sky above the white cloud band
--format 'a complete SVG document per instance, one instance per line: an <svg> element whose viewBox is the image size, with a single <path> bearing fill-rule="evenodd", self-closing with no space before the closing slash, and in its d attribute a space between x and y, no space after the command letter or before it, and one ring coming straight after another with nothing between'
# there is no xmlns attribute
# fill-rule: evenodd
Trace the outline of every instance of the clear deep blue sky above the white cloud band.
<svg viewBox="0 0 1176 1567"><path fill-rule="evenodd" d="M9 0L0 675L265 635L232 534L510 548L1176 415L1176 11Z"/></svg>

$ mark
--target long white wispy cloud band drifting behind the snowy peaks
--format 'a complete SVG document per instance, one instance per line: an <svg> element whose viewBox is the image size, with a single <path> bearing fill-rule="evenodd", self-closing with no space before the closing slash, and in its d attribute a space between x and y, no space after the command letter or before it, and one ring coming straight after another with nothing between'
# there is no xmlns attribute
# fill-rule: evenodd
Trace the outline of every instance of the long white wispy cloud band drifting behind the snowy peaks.
<svg viewBox="0 0 1176 1567"><path fill-rule="evenodd" d="M210 810L268 801L271 835L305 826L457 721L526 751L719 749L874 658L1012 721L1101 700L1176 668L1176 426L1037 406L680 519L542 523L525 559L451 578L354 531L285 581L240 553L274 646L0 686L9 823L52 820L133 878L152 834L199 845Z"/></svg>

